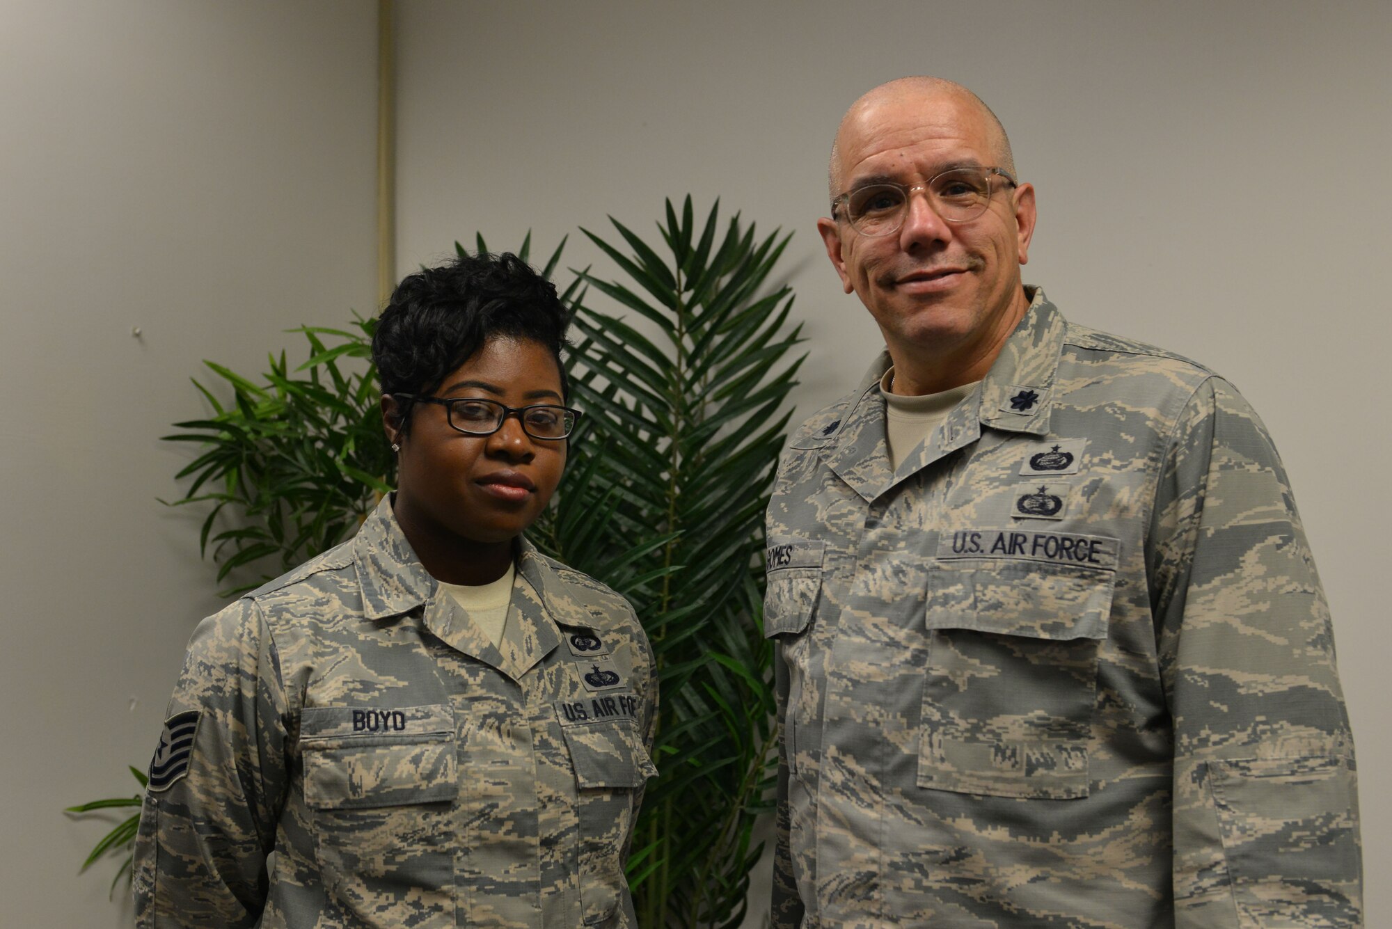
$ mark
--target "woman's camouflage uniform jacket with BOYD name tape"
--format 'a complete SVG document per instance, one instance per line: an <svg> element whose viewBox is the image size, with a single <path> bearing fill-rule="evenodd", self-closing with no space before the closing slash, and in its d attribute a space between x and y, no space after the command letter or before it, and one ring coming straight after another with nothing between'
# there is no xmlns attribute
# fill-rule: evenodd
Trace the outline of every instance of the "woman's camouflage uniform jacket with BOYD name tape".
<svg viewBox="0 0 1392 929"><path fill-rule="evenodd" d="M636 926L647 640L526 542L518 573L494 645L383 501L203 620L141 815L138 925Z"/></svg>

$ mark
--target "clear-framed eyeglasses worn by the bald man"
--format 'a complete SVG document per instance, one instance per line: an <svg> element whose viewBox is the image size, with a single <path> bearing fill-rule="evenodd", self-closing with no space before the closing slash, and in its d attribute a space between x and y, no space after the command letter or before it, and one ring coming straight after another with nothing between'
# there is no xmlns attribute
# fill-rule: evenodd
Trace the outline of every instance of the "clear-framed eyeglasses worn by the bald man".
<svg viewBox="0 0 1392 929"><path fill-rule="evenodd" d="M903 228L909 214L909 197L923 191L928 206L948 223L970 223L991 203L991 177L999 175L1012 188L1015 178L1001 168L952 168L928 178L924 184L866 184L846 191L831 202L831 214L841 216L860 235L892 235Z"/></svg>

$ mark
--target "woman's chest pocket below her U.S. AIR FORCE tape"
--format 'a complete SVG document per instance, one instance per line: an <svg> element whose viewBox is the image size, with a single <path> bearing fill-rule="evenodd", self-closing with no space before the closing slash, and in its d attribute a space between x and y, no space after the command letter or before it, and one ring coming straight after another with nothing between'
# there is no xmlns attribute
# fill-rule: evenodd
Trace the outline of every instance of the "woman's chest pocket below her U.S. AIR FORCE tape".
<svg viewBox="0 0 1392 929"><path fill-rule="evenodd" d="M638 732L642 713L633 694L561 702L557 716L575 768L582 919L586 926L614 925L619 901L628 898L624 857L638 816L638 789L657 776L657 768Z"/></svg>

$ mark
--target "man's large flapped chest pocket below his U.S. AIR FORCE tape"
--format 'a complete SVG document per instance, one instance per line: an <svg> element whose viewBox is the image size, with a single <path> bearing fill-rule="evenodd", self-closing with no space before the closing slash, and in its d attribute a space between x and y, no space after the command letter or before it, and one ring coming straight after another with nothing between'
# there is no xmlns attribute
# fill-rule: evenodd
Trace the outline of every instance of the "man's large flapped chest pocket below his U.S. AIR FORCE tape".
<svg viewBox="0 0 1392 929"><path fill-rule="evenodd" d="M1073 538L1089 540L1091 560L940 556L930 567L920 787L1089 794L1116 540Z"/></svg>

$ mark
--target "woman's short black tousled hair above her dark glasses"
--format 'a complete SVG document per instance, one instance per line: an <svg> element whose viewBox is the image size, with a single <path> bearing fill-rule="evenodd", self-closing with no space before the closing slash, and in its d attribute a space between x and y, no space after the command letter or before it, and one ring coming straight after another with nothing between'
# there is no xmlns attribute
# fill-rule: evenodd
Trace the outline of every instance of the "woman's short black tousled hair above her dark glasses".
<svg viewBox="0 0 1392 929"><path fill-rule="evenodd" d="M518 256L461 255L397 285L377 317L372 362L383 394L430 395L489 339L529 339L555 356L561 396L568 399L561 352L569 323L555 285ZM411 406L401 409L402 433L409 430Z"/></svg>

